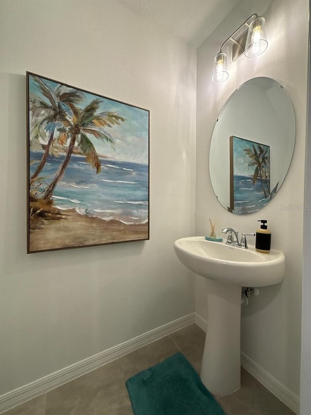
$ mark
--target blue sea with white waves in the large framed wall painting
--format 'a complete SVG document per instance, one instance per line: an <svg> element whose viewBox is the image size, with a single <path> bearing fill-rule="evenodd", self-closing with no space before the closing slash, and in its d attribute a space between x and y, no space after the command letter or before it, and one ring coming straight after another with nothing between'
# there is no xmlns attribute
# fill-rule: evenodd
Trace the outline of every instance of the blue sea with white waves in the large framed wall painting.
<svg viewBox="0 0 311 415"><path fill-rule="evenodd" d="M42 157L31 152L30 175ZM39 191L51 182L63 157L49 156L40 176ZM61 211L74 209L83 216L125 224L148 222L148 165L101 159L101 173L96 174L85 157L72 155L64 176L57 184L53 205Z"/></svg>

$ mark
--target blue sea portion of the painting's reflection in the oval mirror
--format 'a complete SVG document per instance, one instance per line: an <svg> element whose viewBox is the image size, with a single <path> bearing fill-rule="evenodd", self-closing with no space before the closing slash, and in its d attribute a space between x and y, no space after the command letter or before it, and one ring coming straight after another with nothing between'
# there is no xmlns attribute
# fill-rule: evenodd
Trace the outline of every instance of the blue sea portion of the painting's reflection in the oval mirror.
<svg viewBox="0 0 311 415"><path fill-rule="evenodd" d="M270 201L271 196L264 196L262 184L257 180L253 185L253 177L234 176L234 210L237 215L258 212Z"/></svg>

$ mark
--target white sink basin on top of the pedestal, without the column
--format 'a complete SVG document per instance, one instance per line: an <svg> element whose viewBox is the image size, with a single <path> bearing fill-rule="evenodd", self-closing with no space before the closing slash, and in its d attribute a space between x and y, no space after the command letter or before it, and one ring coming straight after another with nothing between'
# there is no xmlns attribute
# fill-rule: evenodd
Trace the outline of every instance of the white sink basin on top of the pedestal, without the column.
<svg viewBox="0 0 311 415"><path fill-rule="evenodd" d="M204 236L178 239L174 250L179 261L189 270L212 280L237 284L241 287L263 287L282 281L285 256L281 251L259 253L207 241Z"/></svg>

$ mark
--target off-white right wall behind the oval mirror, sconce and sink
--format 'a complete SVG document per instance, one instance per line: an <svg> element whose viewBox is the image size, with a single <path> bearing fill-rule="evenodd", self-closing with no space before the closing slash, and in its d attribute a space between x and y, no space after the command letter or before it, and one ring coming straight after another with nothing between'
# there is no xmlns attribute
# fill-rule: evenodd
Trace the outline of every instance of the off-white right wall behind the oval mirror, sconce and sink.
<svg viewBox="0 0 311 415"><path fill-rule="evenodd" d="M242 0L198 49L196 234L209 232L208 217L218 218L217 233L231 226L254 232L258 219L267 219L272 248L284 251L284 281L260 289L242 308L242 351L299 396L303 211L281 205L303 205L308 58L307 0ZM212 62L223 41L252 13L266 18L269 47L261 56L228 62L229 79L210 81ZM236 216L216 200L209 180L208 151L217 116L230 94L247 79L268 76L287 90L295 112L296 142L288 175L276 197L259 213ZM242 121L241 121L242 122ZM219 160L221 163L222 160ZM249 239L251 242L251 239ZM203 278L196 277L196 312L206 319Z"/></svg>

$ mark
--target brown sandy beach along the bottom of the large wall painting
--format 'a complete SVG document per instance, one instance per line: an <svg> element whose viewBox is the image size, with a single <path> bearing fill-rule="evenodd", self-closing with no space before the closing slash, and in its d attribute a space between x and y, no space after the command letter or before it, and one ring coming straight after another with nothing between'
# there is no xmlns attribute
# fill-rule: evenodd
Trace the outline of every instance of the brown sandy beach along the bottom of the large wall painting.
<svg viewBox="0 0 311 415"><path fill-rule="evenodd" d="M148 223L126 225L79 215L73 209L59 220L44 220L41 229L30 233L30 251L45 251L148 238Z"/></svg>

